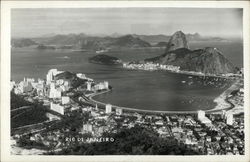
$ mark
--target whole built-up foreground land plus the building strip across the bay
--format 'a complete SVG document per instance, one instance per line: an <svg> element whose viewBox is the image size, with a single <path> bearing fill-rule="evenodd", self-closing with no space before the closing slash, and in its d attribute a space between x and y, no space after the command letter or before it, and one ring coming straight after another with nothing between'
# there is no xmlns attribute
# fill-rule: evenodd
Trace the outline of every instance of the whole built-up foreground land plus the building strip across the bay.
<svg viewBox="0 0 250 162"><path fill-rule="evenodd" d="M179 71L166 65L123 66ZM244 155L243 79L224 77L237 81L218 108L195 113L95 102L92 96L112 87L81 73L51 69L45 80L11 81L12 154Z"/></svg>

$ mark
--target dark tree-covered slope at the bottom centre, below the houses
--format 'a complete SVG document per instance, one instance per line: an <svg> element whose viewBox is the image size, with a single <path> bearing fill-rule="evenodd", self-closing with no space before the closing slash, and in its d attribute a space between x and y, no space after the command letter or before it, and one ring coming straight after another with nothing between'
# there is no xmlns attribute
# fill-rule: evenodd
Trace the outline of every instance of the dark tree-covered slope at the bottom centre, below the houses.
<svg viewBox="0 0 250 162"><path fill-rule="evenodd" d="M150 128L135 126L123 128L118 133L105 132L102 137L112 137L114 142L83 143L64 149L57 154L82 155L197 155L174 138L160 138Z"/></svg>

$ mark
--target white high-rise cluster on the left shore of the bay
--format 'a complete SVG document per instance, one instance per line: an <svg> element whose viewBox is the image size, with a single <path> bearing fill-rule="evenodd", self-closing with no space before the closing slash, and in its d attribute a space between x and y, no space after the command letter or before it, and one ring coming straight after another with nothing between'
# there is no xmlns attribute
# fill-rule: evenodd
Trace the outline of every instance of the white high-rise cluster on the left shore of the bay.
<svg viewBox="0 0 250 162"><path fill-rule="evenodd" d="M79 105L74 103L70 98L69 90L72 83L69 79L60 79L57 75L64 73L57 69L50 69L46 75L46 80L38 79L37 82L33 78L24 78L20 83L11 82L11 90L15 94L27 94L29 98L39 99L44 105L50 107L51 110L64 115L67 110L78 109ZM107 81L94 83L93 79L87 78L85 74L77 73L76 77L85 81L85 90L96 92L98 90L109 89ZM64 77L62 77L64 78ZM35 96L32 97L34 92ZM50 115L51 116L51 115ZM55 119L55 118L50 118Z"/></svg>

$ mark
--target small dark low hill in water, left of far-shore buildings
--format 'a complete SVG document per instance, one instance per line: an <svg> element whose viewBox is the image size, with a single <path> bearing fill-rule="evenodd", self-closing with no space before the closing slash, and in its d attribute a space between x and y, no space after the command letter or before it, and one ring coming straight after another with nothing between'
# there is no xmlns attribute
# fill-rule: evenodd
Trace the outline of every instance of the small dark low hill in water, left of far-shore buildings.
<svg viewBox="0 0 250 162"><path fill-rule="evenodd" d="M117 57L108 56L108 55L104 55L104 54L93 56L93 57L89 58L89 61L91 63L105 64L105 65L117 65L117 64L122 63L122 61L120 59L118 59Z"/></svg>

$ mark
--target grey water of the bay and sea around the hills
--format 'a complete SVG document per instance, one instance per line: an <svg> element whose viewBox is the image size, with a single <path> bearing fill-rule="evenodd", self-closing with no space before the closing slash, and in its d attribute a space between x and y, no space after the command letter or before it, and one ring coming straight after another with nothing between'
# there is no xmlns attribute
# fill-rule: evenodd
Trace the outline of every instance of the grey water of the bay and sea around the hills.
<svg viewBox="0 0 250 162"><path fill-rule="evenodd" d="M218 48L236 66L243 65L240 43L197 42L192 49L212 46ZM162 54L162 49L126 49L105 53L123 61L142 60ZM95 100L117 106L145 110L188 111L207 110L215 106L213 100L230 86L230 82L213 77L199 77L166 71L123 69L117 65L92 64L94 52L70 50L37 50L15 48L11 50L11 79L24 77L45 79L49 69L84 73L96 81L108 81L113 87L109 93L95 96Z"/></svg>

